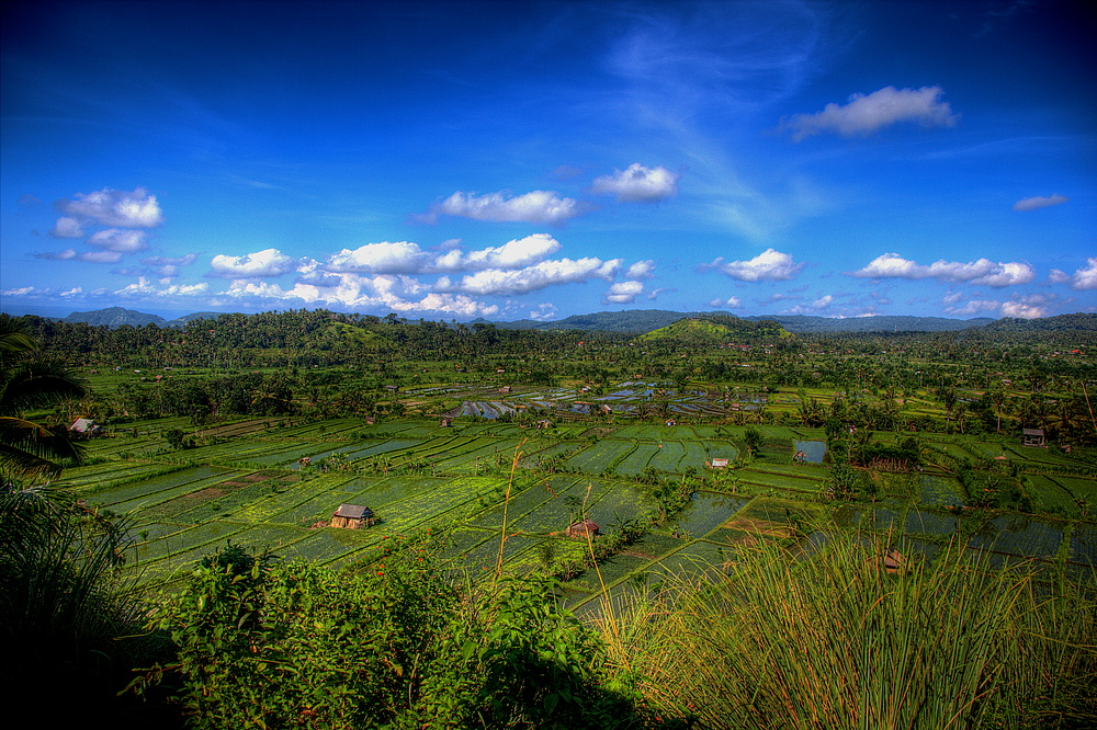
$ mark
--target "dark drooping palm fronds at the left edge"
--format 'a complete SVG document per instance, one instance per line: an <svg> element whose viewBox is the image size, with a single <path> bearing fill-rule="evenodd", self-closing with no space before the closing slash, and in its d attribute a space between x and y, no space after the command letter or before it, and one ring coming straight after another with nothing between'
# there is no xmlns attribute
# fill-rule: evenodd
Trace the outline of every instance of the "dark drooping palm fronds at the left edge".
<svg viewBox="0 0 1097 730"><path fill-rule="evenodd" d="M60 364L33 356L37 342L19 320L0 315L0 474L34 480L60 474L58 459L79 459L81 449L64 432L55 433L24 417L82 398L83 385Z"/></svg>

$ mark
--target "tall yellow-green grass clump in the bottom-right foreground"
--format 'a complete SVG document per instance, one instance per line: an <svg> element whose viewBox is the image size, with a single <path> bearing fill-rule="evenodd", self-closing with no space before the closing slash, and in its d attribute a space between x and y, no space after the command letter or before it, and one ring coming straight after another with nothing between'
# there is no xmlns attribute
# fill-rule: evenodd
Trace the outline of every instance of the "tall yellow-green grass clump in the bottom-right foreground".
<svg viewBox="0 0 1097 730"><path fill-rule="evenodd" d="M886 547L759 543L726 581L672 585L604 635L629 642L649 703L704 728L1093 727L1092 591L958 545L931 563L904 550L889 574Z"/></svg>

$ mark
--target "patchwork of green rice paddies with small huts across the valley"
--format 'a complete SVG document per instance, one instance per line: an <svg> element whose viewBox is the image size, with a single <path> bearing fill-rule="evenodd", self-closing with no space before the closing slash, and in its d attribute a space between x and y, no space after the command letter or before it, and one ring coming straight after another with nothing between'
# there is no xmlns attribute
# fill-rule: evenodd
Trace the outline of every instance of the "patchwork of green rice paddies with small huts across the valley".
<svg viewBox="0 0 1097 730"><path fill-rule="evenodd" d="M1062 561L1083 580L1097 577L1090 463L1002 442L936 437L927 454L930 463L948 456L1000 464L1005 456L1031 513L965 509L963 484L939 468L872 474L877 501L834 501L826 465L794 458L812 442L812 456L822 459L818 434L785 426L757 426L765 448L750 458L739 426L523 429L483 414L446 425L241 420L205 429L194 448L169 446L165 432L185 425L126 424L88 442L86 465L65 472L88 506L131 516L137 569L166 590L226 540L361 569L387 540L429 531L453 570L478 580L494 574L500 555L508 573L551 571L624 525L641 525L643 534L598 570L569 578L564 594L574 606L593 611L603 592L643 591L669 574L721 573L746 541L794 544L829 529L889 534L927 555L962 540L1002 564ZM730 464L711 469L713 458ZM685 507L661 522L660 483L688 494ZM328 526L344 503L369 506L376 524ZM591 544L565 535L584 517L599 526Z"/></svg>

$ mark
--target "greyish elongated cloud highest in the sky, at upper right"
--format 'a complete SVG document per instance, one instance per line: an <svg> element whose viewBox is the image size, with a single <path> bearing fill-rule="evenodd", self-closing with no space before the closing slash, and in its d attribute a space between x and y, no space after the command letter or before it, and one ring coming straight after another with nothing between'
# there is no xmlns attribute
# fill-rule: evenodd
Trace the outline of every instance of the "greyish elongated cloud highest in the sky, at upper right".
<svg viewBox="0 0 1097 730"><path fill-rule="evenodd" d="M955 126L959 115L940 100L940 87L896 89L884 87L871 94L852 94L845 105L827 104L815 114L795 114L782 119L779 129L791 132L794 141L833 132L842 137L866 137L900 122L923 127Z"/></svg>

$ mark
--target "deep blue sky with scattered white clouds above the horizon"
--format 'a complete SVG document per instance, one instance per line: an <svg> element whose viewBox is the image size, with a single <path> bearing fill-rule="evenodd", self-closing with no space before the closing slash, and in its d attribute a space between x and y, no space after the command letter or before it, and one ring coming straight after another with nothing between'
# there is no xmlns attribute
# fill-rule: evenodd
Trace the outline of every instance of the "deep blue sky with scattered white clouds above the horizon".
<svg viewBox="0 0 1097 730"><path fill-rule="evenodd" d="M5 311L1097 311L1083 2L2 5Z"/></svg>

